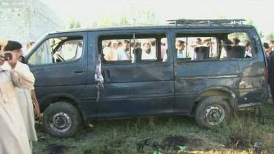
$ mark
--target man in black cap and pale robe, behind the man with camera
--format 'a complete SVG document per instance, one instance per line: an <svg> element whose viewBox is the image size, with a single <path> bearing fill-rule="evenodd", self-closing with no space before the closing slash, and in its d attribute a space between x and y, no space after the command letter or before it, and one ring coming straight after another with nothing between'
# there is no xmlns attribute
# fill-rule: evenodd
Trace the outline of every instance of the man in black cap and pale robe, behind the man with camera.
<svg viewBox="0 0 274 154"><path fill-rule="evenodd" d="M23 60L22 45L16 41L8 41L6 44L5 51L12 51L16 53L16 58L19 62ZM24 66L29 70L29 67L24 64ZM32 101L32 88L15 88L17 94L18 104L21 108L21 113L27 129L27 136L29 138L29 146L32 151L32 142L37 141L36 131L34 127L34 104ZM36 102L37 104L37 102ZM36 105L38 107L38 105ZM40 111L39 111L40 112Z"/></svg>

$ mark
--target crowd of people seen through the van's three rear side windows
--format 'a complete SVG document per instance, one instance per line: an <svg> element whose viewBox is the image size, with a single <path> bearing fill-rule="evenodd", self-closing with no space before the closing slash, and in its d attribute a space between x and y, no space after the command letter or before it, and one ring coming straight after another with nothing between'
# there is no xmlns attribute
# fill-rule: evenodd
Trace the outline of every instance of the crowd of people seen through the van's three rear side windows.
<svg viewBox="0 0 274 154"><path fill-rule="evenodd" d="M186 41L187 40L187 41ZM175 49L178 59L185 60L201 60L205 58L213 58L218 56L218 44L216 38L213 37L190 37L190 38L176 38ZM220 58L250 58L252 57L251 44L249 40L239 40L238 38L231 38L222 42L220 49ZM140 49L141 60L157 60L162 59L166 62L168 58L167 43L161 40L160 44L160 58L156 50L155 39L136 39L132 40L103 40L102 52L104 60L106 61L125 61L129 60L134 62L136 59L136 52L134 49ZM203 51L201 51L203 49ZM228 55L227 52L231 50L240 50L243 55ZM206 50L206 52L204 52ZM201 55L207 54L207 55ZM232 53L232 52L230 52ZM201 57L202 58L199 58ZM230 56L230 57L229 57Z"/></svg>

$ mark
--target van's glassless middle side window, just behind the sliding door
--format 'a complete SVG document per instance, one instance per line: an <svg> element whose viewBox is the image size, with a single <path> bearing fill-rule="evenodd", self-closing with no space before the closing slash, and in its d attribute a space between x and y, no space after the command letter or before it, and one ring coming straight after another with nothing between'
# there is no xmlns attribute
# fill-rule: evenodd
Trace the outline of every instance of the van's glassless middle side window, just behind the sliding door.
<svg viewBox="0 0 274 154"><path fill-rule="evenodd" d="M178 61L216 59L218 57L217 38L210 36L177 36L175 52Z"/></svg>

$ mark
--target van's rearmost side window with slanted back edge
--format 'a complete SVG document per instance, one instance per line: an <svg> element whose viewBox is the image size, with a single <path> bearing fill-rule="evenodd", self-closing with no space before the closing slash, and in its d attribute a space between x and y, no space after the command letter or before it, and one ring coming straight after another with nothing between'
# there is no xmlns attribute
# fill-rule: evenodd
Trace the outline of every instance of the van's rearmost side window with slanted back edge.
<svg viewBox="0 0 274 154"><path fill-rule="evenodd" d="M227 34L222 40L221 59L244 59L253 57L254 53L247 33Z"/></svg>

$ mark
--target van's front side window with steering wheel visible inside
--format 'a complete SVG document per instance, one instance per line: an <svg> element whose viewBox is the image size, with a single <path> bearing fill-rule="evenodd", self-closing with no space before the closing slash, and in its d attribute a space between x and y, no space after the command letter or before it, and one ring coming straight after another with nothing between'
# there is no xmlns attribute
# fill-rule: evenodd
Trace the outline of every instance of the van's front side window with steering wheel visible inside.
<svg viewBox="0 0 274 154"><path fill-rule="evenodd" d="M82 37L60 37L45 40L29 57L28 64L42 65L78 60L83 53Z"/></svg>

